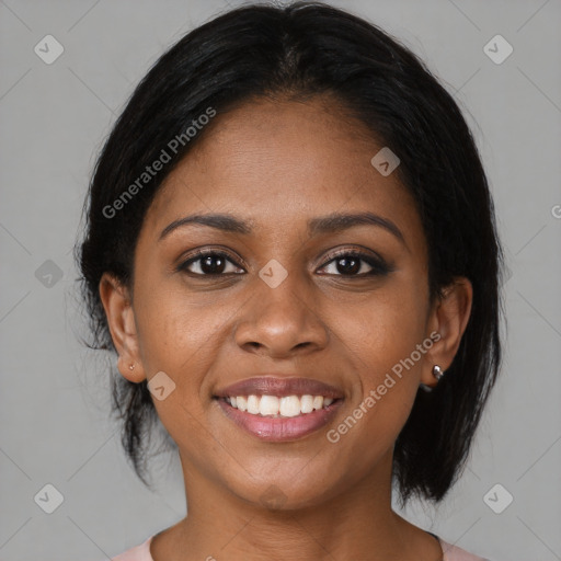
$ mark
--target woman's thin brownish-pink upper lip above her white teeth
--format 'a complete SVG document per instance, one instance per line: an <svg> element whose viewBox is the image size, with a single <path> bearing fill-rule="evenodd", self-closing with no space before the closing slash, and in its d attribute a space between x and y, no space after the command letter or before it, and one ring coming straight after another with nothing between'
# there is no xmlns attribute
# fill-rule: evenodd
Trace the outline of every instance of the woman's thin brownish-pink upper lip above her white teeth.
<svg viewBox="0 0 561 561"><path fill-rule="evenodd" d="M323 396L339 399L343 398L343 392L329 383L311 378L257 376L237 381L215 393L218 398L236 396Z"/></svg>

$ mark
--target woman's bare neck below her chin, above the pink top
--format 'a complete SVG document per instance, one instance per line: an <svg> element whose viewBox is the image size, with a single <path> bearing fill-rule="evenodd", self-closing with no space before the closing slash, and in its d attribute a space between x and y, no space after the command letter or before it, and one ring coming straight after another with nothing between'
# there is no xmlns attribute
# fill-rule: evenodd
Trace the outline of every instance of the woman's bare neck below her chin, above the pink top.
<svg viewBox="0 0 561 561"><path fill-rule="evenodd" d="M188 515L153 538L154 561L409 560L440 552L391 508L391 453L354 484L314 504L267 508L217 485L182 459ZM183 553L181 553L183 552ZM439 557L434 556L433 559Z"/></svg>

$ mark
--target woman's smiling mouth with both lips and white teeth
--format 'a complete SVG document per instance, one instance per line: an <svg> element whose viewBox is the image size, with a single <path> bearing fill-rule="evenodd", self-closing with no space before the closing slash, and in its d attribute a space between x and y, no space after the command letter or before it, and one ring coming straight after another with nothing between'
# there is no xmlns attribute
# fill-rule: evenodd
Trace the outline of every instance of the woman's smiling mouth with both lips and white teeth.
<svg viewBox="0 0 561 561"><path fill-rule="evenodd" d="M307 378L251 378L215 394L226 416L265 442L290 442L327 425L344 401L332 386Z"/></svg>

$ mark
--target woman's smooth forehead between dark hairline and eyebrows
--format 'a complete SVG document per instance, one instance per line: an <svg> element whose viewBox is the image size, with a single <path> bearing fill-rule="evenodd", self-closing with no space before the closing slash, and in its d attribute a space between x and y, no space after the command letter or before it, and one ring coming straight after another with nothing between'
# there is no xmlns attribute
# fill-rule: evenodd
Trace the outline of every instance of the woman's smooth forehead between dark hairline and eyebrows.
<svg viewBox="0 0 561 561"><path fill-rule="evenodd" d="M254 101L217 115L163 182L145 226L157 238L193 213L231 213L255 230L290 227L334 211L375 211L422 238L397 173L370 163L382 148L336 104ZM286 231L286 230L285 230Z"/></svg>

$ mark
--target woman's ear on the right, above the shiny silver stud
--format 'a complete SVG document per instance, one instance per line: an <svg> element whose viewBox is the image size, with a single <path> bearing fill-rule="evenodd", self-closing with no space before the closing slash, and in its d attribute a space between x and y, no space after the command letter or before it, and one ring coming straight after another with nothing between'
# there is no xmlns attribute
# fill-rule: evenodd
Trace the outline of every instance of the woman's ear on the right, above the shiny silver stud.
<svg viewBox="0 0 561 561"><path fill-rule="evenodd" d="M425 386L434 387L437 383L433 376L434 365L438 365L443 371L450 367L468 325L472 299L473 288L469 279L456 277L435 301L428 319L428 333L439 333L440 339L426 353L421 375L421 382Z"/></svg>

